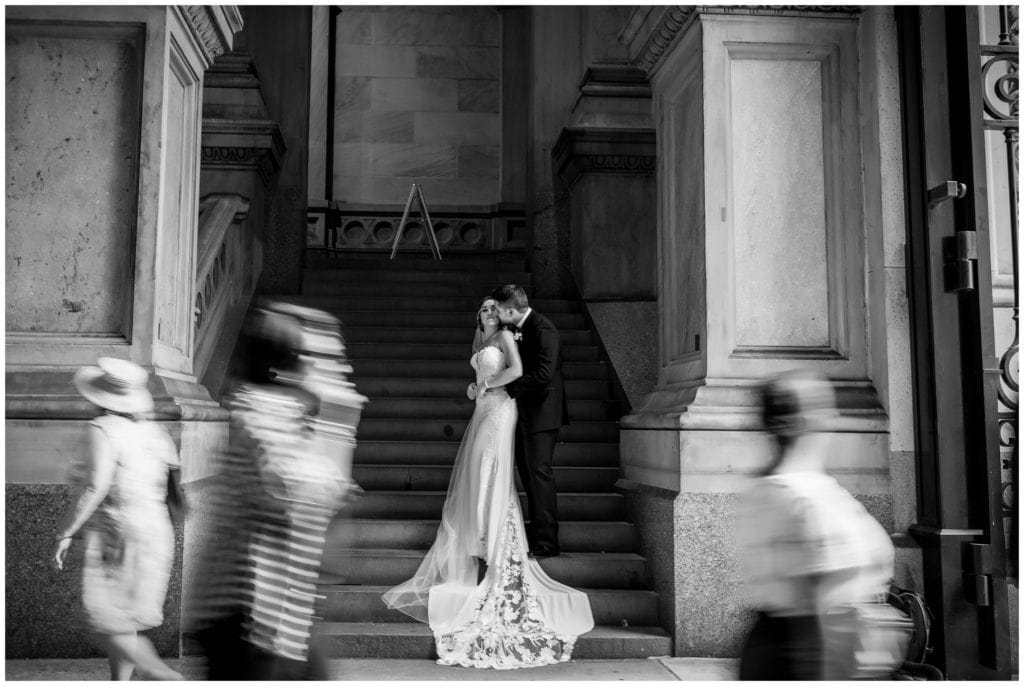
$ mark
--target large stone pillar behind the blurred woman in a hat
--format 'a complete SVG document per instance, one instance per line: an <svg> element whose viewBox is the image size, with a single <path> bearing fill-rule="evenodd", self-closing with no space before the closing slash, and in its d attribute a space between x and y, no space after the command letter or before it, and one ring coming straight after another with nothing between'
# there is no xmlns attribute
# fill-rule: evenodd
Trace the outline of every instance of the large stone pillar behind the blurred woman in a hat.
<svg viewBox="0 0 1024 686"><path fill-rule="evenodd" d="M79 558L47 568L91 417L74 372L103 355L147 368L186 474L224 419L194 376L193 302L203 73L240 28L230 6L7 11L8 657L97 654ZM179 597L180 567L164 654Z"/></svg>

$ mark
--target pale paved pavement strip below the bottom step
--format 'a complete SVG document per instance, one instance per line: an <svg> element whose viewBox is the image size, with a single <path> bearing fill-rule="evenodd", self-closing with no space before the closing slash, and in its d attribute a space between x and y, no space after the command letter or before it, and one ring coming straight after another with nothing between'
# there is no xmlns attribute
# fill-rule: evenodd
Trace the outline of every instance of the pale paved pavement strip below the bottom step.
<svg viewBox="0 0 1024 686"><path fill-rule="evenodd" d="M198 659L168 663L185 679L202 678ZM331 677L338 681L731 681L735 659L651 657L648 659L581 659L529 670L497 672L441 667L424 659L333 659ZM8 659L7 681L104 681L103 659Z"/></svg>

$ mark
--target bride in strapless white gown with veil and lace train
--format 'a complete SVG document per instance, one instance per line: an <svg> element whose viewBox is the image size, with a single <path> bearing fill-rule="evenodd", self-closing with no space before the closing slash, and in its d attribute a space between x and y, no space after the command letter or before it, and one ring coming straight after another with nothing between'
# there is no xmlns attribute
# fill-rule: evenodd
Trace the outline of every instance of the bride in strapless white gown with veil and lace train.
<svg viewBox="0 0 1024 686"><path fill-rule="evenodd" d="M516 404L504 386L522 375L513 335L486 298L470 365L476 409L455 459L433 546L384 603L434 635L440 664L514 670L569 659L594 628L587 594L549 577L527 557L512 478ZM481 572L482 581L480 580Z"/></svg>

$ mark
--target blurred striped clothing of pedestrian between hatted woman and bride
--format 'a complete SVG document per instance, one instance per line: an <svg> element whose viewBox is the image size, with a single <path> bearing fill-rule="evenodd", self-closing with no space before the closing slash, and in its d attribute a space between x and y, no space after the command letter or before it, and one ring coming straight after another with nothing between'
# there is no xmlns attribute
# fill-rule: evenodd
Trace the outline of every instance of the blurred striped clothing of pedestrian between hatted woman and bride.
<svg viewBox="0 0 1024 686"><path fill-rule="evenodd" d="M346 481L295 396L243 386L228 408L193 629L240 618L244 641L306 661L325 535Z"/></svg>

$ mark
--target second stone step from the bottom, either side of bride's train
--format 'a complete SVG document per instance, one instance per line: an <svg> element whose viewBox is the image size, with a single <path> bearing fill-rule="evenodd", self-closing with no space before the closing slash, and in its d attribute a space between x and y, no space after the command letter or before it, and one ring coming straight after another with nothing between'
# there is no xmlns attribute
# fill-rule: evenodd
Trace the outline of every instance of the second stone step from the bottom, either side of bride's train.
<svg viewBox="0 0 1024 686"><path fill-rule="evenodd" d="M408 614L390 609L381 596L390 586L321 586L319 613L327 621L410 623ZM637 589L580 589L590 600L597 627L657 625L657 594Z"/></svg>

